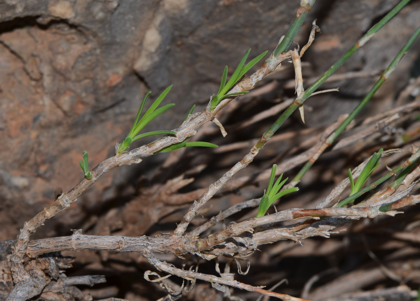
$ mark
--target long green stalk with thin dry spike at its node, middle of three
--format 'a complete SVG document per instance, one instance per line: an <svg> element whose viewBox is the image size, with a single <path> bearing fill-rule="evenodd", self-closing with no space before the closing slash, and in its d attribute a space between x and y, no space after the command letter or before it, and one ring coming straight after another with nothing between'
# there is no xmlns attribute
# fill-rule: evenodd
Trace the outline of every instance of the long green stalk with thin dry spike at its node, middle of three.
<svg viewBox="0 0 420 301"><path fill-rule="evenodd" d="M315 92L318 87L320 87L323 82L325 82L328 77L330 77L339 67L353 54L355 53L360 47L365 45L365 43L370 40L374 36L376 32L383 25L385 25L392 17L396 15L410 0L402 0L398 3L389 13L386 14L385 17L381 19L375 26L373 26L365 35L363 35L360 40L353 45L349 51L346 52L336 63L333 64L316 82L314 82L304 93L299 95L298 98L286 109L286 111L281 114L281 116L276 120L276 122L264 133L262 139L257 143L256 147L261 148L278 130L279 127L286 121L287 118L305 101L309 96ZM284 39L283 39L284 40ZM281 43L280 43L281 44Z"/></svg>

